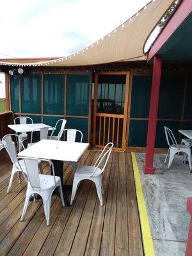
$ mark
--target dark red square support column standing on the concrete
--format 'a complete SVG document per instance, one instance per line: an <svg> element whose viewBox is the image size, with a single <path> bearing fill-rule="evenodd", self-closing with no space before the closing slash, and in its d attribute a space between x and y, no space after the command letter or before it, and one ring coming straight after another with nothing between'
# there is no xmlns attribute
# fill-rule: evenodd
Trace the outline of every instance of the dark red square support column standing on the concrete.
<svg viewBox="0 0 192 256"><path fill-rule="evenodd" d="M154 147L156 141L157 111L159 104L159 88L161 84L161 55L154 56L152 88L150 93L150 109L148 116L147 148L145 154L145 174L154 174Z"/></svg>

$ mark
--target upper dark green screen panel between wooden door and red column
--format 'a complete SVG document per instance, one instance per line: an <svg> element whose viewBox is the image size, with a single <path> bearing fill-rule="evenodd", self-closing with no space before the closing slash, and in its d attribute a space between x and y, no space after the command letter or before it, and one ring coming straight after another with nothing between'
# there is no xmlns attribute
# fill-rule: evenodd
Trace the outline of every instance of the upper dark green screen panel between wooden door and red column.
<svg viewBox="0 0 192 256"><path fill-rule="evenodd" d="M151 90L150 76L133 76L131 117L148 118Z"/></svg>

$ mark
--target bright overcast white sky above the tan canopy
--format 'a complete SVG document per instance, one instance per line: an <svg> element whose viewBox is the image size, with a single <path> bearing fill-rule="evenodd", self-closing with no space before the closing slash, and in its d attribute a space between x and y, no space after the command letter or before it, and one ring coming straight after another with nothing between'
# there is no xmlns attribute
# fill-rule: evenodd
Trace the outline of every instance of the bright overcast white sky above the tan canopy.
<svg viewBox="0 0 192 256"><path fill-rule="evenodd" d="M0 58L67 56L97 41L150 0L2 0Z"/></svg>

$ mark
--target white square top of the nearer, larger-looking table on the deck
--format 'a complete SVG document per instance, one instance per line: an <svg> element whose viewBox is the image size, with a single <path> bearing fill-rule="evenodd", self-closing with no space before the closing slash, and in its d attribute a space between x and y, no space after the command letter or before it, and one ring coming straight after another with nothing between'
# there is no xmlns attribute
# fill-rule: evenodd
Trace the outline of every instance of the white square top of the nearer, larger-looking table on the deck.
<svg viewBox="0 0 192 256"><path fill-rule="evenodd" d="M60 140L41 140L21 151L18 156L77 162L89 143Z"/></svg>

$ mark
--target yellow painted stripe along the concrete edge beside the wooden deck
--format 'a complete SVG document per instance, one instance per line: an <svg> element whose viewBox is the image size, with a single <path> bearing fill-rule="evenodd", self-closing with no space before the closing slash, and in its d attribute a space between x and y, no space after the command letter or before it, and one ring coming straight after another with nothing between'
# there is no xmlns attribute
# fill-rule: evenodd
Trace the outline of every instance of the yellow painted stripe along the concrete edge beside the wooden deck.
<svg viewBox="0 0 192 256"><path fill-rule="evenodd" d="M145 256L154 256L154 244L152 241L152 236L150 232L150 225L147 216L147 209L145 205L145 199L143 196L143 190L141 186L140 172L138 169L138 163L134 153L131 153L132 156L132 166L134 172L134 179L136 184L136 195L138 199L138 208L140 214L140 223L141 223L141 233L143 237L143 247Z"/></svg>

